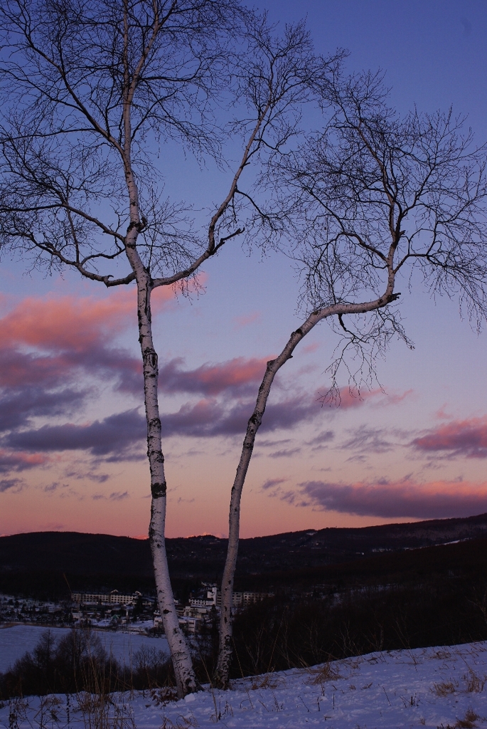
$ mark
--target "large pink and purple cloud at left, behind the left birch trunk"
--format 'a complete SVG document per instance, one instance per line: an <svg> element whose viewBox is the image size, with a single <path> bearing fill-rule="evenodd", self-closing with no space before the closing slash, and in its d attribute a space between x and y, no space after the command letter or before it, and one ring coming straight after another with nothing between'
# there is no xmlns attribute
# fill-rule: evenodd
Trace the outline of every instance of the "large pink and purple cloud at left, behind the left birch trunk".
<svg viewBox="0 0 487 729"><path fill-rule="evenodd" d="M201 283L190 284L194 289ZM153 310L175 300L175 286L156 289ZM0 317L0 386L59 386L78 367L120 378L124 390L141 388L137 356L114 346L114 338L137 326L136 291L117 289L106 297L27 297ZM23 347L36 352L19 351Z"/></svg>

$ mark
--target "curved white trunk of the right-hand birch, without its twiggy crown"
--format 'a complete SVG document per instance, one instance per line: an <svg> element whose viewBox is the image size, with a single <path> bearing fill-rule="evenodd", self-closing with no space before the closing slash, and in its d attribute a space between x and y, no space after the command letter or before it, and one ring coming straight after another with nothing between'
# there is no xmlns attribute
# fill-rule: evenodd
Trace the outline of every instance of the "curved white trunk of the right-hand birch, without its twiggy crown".
<svg viewBox="0 0 487 729"><path fill-rule="evenodd" d="M231 658L233 650L231 646L232 637L232 615L231 607L234 593L234 576L237 566L237 555L239 546L239 529L240 529L240 503L242 500L242 489L245 483L245 477L248 472L250 459L252 458L253 446L256 441L256 434L261 426L262 417L266 410L267 399L272 388L272 383L277 372L280 370L288 359L293 356L293 351L299 342L308 334L312 328L328 316L346 313L365 313L381 308L397 295L393 294L394 274L389 270L389 281L386 293L383 297L374 301L363 304L341 304L332 305L314 311L308 319L299 327L296 332L290 335L288 343L276 359L267 362L266 373L258 389L256 407L253 410L247 425L247 432L242 445L242 453L240 456L237 473L235 475L234 485L231 488L230 511L229 511L229 544L226 553L225 566L223 568L223 577L221 580L221 612L220 612L220 644L218 651L218 663L215 669L215 685L226 688L229 683L229 673L231 667Z"/></svg>

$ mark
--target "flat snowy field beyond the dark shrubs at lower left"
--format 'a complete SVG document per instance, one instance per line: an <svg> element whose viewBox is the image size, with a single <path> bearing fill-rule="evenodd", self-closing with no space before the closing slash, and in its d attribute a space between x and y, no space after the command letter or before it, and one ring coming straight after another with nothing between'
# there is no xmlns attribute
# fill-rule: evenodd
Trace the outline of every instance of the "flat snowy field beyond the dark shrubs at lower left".
<svg viewBox="0 0 487 729"><path fill-rule="evenodd" d="M0 671L5 673L26 651L32 652L45 631L58 640L71 631L71 628L41 628L39 625L12 625L0 628ZM142 646L154 647L166 654L169 652L165 638L152 638L134 633L93 631L100 637L101 644L108 654L111 653L122 665L130 666L132 655Z"/></svg>

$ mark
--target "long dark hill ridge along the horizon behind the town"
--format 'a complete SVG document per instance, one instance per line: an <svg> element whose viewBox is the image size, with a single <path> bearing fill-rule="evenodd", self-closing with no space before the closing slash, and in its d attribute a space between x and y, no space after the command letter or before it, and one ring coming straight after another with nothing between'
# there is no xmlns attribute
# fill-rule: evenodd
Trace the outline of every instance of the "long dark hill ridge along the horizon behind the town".
<svg viewBox="0 0 487 729"><path fill-rule="evenodd" d="M341 574L367 572L369 563L377 569L381 565L379 572L389 569L394 573L395 566L387 568L388 553L479 537L487 537L487 514L242 539L236 586L252 589L254 585L335 582L333 565L338 564ZM212 536L167 539L175 588L187 588L200 580L218 581L225 550L226 539ZM349 565L347 569L344 563ZM149 542L62 531L0 537L0 591L61 595L67 593L66 582L77 589L152 590Z"/></svg>

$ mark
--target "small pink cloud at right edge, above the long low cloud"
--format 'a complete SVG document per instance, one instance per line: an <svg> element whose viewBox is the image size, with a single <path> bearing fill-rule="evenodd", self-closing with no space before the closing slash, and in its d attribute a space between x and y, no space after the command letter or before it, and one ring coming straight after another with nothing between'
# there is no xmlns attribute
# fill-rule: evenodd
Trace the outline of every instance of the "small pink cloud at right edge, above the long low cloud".
<svg viewBox="0 0 487 729"><path fill-rule="evenodd" d="M449 451L467 458L487 458L487 416L451 421L413 440L419 451Z"/></svg>

